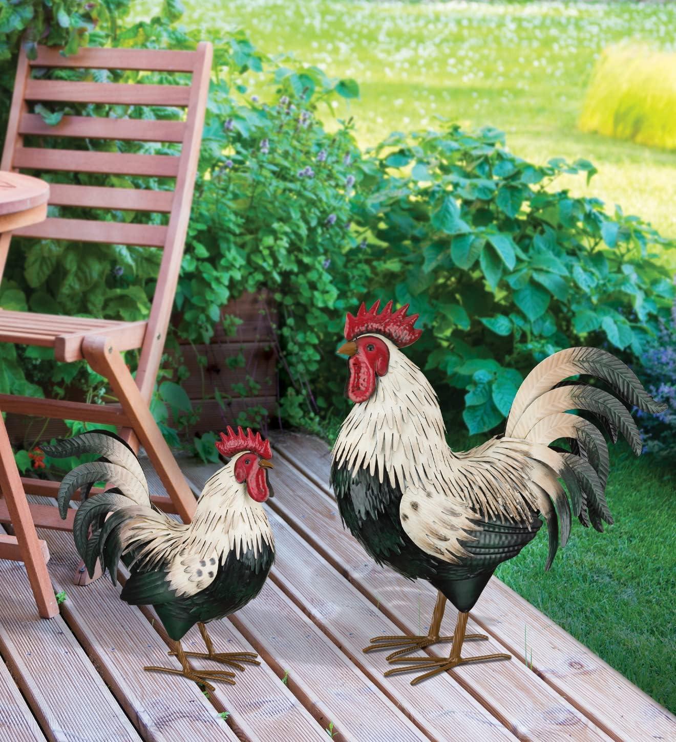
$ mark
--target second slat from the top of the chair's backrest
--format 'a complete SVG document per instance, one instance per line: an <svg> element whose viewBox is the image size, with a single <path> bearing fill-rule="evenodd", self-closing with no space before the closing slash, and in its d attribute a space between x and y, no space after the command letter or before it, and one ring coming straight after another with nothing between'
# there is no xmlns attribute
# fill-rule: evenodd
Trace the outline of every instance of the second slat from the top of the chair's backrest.
<svg viewBox="0 0 676 742"><path fill-rule="evenodd" d="M186 106L190 99L190 86L29 79L24 98L43 102Z"/></svg>

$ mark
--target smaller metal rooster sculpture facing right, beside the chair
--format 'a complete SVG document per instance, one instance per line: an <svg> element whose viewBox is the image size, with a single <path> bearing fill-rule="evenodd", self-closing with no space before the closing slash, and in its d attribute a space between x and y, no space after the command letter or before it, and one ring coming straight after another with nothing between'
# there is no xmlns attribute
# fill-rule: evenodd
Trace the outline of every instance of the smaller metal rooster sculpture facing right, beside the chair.
<svg viewBox="0 0 676 742"><path fill-rule="evenodd" d="M90 576L97 559L116 582L120 558L130 577L120 597L130 605L153 605L175 643L181 669L145 667L182 675L209 690L209 680L234 685L234 672L193 670L187 657L204 657L244 670L258 665L253 652L216 652L205 623L247 605L263 588L273 564L273 534L263 509L270 496L267 470L272 468L270 441L241 427L227 428L216 448L230 458L204 485L192 522L183 524L157 510L150 500L143 469L131 448L107 430L92 430L57 441L42 450L56 458L95 453L98 461L80 464L59 487L58 503L66 516L73 493L82 499L95 482L105 492L77 510L73 536ZM88 538L89 529L92 529ZM207 652L186 652L181 639L198 625Z"/></svg>

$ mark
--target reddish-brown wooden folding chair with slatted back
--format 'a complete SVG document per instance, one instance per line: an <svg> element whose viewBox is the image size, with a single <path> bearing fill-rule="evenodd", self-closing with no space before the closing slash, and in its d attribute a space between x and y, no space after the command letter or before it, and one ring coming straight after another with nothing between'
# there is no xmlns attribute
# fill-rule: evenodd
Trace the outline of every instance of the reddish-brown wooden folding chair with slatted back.
<svg viewBox="0 0 676 742"><path fill-rule="evenodd" d="M74 171L175 179L173 191L51 184L51 205L155 211L169 214L167 226L48 217L42 223L13 232L22 237L161 248L163 256L147 321L122 322L0 310L0 341L52 347L57 361L85 359L92 369L108 379L119 404L84 404L2 394L0 410L117 425L121 428L120 434L135 450L143 444L169 493L169 497L155 497L155 503L163 510L179 513L184 521L191 519L194 513L195 497L152 418L149 402L181 268L204 126L211 59L212 47L206 42L199 44L195 51L91 48L81 50L75 56L62 56L55 48L39 47L36 59L28 59L22 51L0 164L0 169L5 171ZM32 79L32 68L192 73L192 81L190 85L66 82ZM175 121L63 116L56 126L50 126L41 116L30 113L29 102L167 105L186 108L186 116L185 120ZM28 147L25 146L25 135L180 142L181 154L122 154ZM0 237L0 278L11 236L5 233ZM129 349L140 349L135 378L121 355ZM0 484L3 488L10 486L7 473L13 470L14 462L9 446L0 446L0 467ZM21 483L26 491L39 495L54 496L58 488L57 482L40 479L22 478ZM28 508L36 526L68 528L70 525L68 522L62 524L54 517L56 508L33 504ZM11 516L0 499L0 522L7 522ZM16 523L13 525L18 532ZM79 582L85 581L79 579Z"/></svg>

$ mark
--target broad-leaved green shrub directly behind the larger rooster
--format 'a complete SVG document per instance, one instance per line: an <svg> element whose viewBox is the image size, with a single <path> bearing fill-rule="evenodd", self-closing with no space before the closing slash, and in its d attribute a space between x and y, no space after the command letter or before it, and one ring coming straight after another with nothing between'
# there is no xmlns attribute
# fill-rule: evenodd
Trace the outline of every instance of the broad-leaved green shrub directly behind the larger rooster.
<svg viewBox="0 0 676 742"><path fill-rule="evenodd" d="M383 298L409 302L429 326L412 347L446 404L465 390L470 433L507 415L524 372L571 344L640 357L674 296L656 260L667 243L638 217L554 190L586 160L542 167L504 149L504 136L392 134L362 167L356 220L377 237ZM448 407L446 407L448 409Z"/></svg>

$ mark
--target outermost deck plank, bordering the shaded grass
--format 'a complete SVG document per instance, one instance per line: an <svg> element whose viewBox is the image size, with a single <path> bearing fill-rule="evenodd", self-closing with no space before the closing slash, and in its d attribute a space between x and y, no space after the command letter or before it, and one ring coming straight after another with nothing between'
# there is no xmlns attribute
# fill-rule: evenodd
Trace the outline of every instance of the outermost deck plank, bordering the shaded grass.
<svg viewBox="0 0 676 742"><path fill-rule="evenodd" d="M329 492L331 456L322 441L295 433L277 434L275 440L282 456ZM420 584L431 604L434 591ZM611 738L634 741L643 737L646 728L654 729L657 738L676 736L676 720L663 706L495 577L484 589L472 618L481 631L495 637L523 663L527 625L533 671Z"/></svg>

